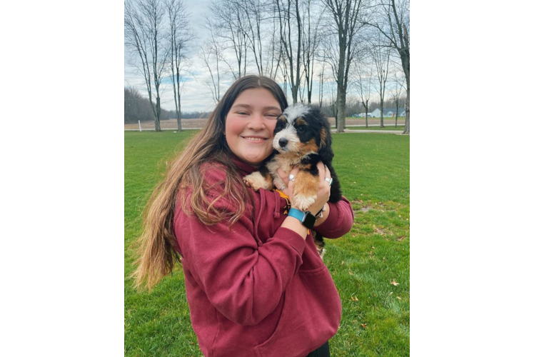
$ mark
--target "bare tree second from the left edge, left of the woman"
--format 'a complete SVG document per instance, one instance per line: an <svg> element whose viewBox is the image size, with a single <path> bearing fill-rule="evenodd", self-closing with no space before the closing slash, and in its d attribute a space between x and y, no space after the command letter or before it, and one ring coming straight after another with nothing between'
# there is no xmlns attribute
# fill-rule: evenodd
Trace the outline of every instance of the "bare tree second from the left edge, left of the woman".
<svg viewBox="0 0 534 357"><path fill-rule="evenodd" d="M166 0L165 6L169 21L169 43L171 45L171 61L174 107L178 131L182 131L181 121L181 92L183 89L183 71L187 66L186 51L188 44L194 39L193 30L189 26L189 17L186 6L181 0Z"/></svg>

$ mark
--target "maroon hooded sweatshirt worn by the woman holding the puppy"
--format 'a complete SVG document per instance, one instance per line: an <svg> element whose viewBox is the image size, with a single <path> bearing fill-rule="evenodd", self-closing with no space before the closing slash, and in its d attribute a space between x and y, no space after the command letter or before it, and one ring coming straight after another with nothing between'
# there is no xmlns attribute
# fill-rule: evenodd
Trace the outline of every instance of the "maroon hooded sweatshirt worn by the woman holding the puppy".
<svg viewBox="0 0 534 357"><path fill-rule="evenodd" d="M255 170L233 161L243 176ZM207 186L226 175L215 164L204 169ZM213 186L208 196L222 189ZM305 241L281 228L286 199L263 189L253 196L255 209L249 206L231 228L224 221L205 226L177 205L176 250L182 256L191 324L208 357L306 356L338 331L341 300L311 235ZM330 215L314 229L338 238L351 230L351 203L343 198L329 204ZM231 209L223 199L216 206Z"/></svg>

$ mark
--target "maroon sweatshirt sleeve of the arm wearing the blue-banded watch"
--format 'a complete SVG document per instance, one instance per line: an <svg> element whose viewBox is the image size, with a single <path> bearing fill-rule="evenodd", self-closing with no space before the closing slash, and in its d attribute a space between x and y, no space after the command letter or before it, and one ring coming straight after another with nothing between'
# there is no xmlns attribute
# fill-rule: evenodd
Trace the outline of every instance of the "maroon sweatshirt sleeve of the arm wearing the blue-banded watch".
<svg viewBox="0 0 534 357"><path fill-rule="evenodd" d="M216 204L231 209L223 199ZM228 228L226 221L206 226L178 210L174 230L196 283L223 316L241 325L256 325L276 308L306 246L298 233L282 227L258 244L247 213Z"/></svg>

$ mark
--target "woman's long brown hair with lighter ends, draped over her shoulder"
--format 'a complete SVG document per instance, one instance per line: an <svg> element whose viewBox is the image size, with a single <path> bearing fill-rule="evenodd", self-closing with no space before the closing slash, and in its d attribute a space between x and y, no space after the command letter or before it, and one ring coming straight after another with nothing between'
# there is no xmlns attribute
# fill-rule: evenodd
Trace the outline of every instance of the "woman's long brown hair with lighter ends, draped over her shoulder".
<svg viewBox="0 0 534 357"><path fill-rule="evenodd" d="M251 201L248 190L231 161L231 150L226 143L226 114L233 102L246 89L263 88L271 91L282 111L288 106L280 86L265 76L244 76L236 80L218 102L208 117L206 126L189 142L186 149L168 166L165 178L156 186L143 211L144 231L133 242L132 248L139 258L134 262L137 268L131 273L135 288L146 286L151 291L163 276L171 273L180 256L176 251L176 236L173 231L174 212L178 191L191 188L191 197L181 195L181 209L195 214L206 225L228 220L230 225L238 221ZM224 191L218 198L208 199L203 184L201 166L209 161L226 167ZM228 200L235 211L223 211L213 204L220 198Z"/></svg>

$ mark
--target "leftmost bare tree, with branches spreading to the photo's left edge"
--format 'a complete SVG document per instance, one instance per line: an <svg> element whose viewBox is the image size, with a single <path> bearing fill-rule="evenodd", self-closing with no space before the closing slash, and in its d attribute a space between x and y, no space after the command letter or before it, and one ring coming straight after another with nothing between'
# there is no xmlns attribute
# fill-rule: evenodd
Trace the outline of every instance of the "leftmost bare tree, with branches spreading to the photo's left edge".
<svg viewBox="0 0 534 357"><path fill-rule="evenodd" d="M141 61L141 66L138 61L134 61L132 65L143 74L156 131L161 131L159 92L168 56L168 51L159 52L163 43L163 16L165 9L161 0L138 0L136 3L124 1L124 45L137 54ZM156 106L152 102L153 91Z"/></svg>

